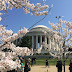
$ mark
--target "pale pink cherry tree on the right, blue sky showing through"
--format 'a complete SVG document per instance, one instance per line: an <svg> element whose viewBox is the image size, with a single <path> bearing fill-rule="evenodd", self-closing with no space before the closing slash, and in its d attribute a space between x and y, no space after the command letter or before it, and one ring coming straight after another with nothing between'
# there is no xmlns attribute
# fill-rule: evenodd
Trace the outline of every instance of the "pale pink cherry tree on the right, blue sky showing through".
<svg viewBox="0 0 72 72"><path fill-rule="evenodd" d="M53 34L58 42L59 41L59 55L62 56L64 51L68 51L69 46L72 47L72 22L59 20L59 23L50 23L52 30L56 32ZM64 49L63 49L64 48Z"/></svg>

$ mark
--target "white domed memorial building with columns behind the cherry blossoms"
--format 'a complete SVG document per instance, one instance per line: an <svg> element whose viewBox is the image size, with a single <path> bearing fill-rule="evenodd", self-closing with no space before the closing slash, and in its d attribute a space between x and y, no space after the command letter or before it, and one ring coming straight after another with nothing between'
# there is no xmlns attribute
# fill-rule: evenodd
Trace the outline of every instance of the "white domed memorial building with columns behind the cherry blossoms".
<svg viewBox="0 0 72 72"><path fill-rule="evenodd" d="M46 49L42 45L43 42L46 44L49 44L49 48L53 48L58 50L58 43L55 43L55 48L52 46L51 42L55 42L55 38L50 37L50 29L44 25L37 25L33 27L27 34L26 36L30 36L32 39L32 48L38 49L42 48L42 50ZM45 50L44 50L45 52ZM48 52L48 51L47 51ZM45 52L46 53L46 52Z"/></svg>

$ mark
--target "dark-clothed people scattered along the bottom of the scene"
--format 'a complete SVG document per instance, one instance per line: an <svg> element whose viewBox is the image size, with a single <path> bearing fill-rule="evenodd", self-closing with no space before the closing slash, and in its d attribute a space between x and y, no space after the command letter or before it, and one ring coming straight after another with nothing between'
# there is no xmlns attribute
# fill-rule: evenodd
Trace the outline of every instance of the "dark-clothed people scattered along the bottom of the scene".
<svg viewBox="0 0 72 72"><path fill-rule="evenodd" d="M36 58L28 58L25 59L25 65L23 64L23 60L21 57L19 57L20 61L21 61L21 69L20 72L29 72L31 71L31 67L36 63ZM61 59L57 59L57 72L62 72L62 61ZM30 67L31 66L31 67ZM49 61L48 59L46 59L46 67L49 68ZM70 59L70 64L69 64L69 71L72 72L72 58ZM13 71L7 71L7 72L17 72L17 70L13 70Z"/></svg>

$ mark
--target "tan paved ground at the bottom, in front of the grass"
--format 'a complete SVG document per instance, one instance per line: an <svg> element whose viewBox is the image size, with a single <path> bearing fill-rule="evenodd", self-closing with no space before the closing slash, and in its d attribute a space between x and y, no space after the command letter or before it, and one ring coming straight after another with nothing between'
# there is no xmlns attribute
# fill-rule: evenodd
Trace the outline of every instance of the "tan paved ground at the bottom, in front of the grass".
<svg viewBox="0 0 72 72"><path fill-rule="evenodd" d="M49 68L45 66L33 66L30 72L57 72L57 68L56 66L50 66ZM64 70L62 70L62 72L64 72ZM69 72L69 66L66 66L66 72Z"/></svg>

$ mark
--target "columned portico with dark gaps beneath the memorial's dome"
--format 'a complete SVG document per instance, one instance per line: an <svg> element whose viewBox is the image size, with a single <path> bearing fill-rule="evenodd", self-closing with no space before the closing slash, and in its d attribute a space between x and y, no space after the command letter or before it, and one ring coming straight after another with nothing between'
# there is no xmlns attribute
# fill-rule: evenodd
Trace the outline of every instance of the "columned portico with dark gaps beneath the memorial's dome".
<svg viewBox="0 0 72 72"><path fill-rule="evenodd" d="M42 47L42 42L45 42L46 44L50 44L50 39L46 35L34 35L32 36L32 48L37 49L38 47Z"/></svg>

